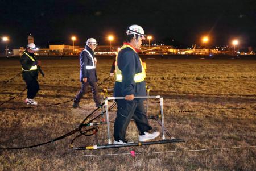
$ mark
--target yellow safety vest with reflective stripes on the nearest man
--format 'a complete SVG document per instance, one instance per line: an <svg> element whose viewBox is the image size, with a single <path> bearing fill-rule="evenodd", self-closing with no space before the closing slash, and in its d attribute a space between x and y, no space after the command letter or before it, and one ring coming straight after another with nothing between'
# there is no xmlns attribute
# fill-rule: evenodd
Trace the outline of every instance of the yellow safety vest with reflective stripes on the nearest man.
<svg viewBox="0 0 256 171"><path fill-rule="evenodd" d="M127 45L127 44L123 45L120 48L120 50L121 49L125 49L125 48L131 48L131 49L133 49L134 52L136 52L133 47L131 47L130 45ZM118 53L117 53L117 56L118 56ZM115 79L115 81L122 82L122 71L117 66L117 56L115 57L115 61L116 61L116 65L115 65L115 70L116 70L115 76L116 76L116 79ZM144 81L144 78L146 78L146 72L145 72L145 69L143 67L141 58L139 58L139 61L141 62L142 72L135 74L134 82L142 82L142 81Z"/></svg>

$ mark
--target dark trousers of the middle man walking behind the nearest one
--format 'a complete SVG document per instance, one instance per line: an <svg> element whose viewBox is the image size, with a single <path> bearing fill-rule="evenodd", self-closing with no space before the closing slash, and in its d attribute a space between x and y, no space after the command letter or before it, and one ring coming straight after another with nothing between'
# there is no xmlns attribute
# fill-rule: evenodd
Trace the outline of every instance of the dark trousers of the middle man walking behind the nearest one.
<svg viewBox="0 0 256 171"><path fill-rule="evenodd" d="M82 82L82 86L81 89L79 91L79 93L76 95L74 102L75 103L79 103L82 96L87 93L87 87L90 85L90 87L92 87L92 93L93 93L93 99L96 105L100 105L101 103L101 98L100 95L98 95L98 84L97 82Z"/></svg>

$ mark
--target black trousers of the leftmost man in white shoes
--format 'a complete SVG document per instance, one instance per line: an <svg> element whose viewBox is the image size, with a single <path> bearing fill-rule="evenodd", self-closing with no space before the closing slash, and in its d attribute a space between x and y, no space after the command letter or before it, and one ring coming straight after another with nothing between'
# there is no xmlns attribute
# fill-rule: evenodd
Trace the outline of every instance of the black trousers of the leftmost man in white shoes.
<svg viewBox="0 0 256 171"><path fill-rule="evenodd" d="M24 81L27 84L27 98L33 99L39 90L38 79L36 77L35 78L24 78Z"/></svg>

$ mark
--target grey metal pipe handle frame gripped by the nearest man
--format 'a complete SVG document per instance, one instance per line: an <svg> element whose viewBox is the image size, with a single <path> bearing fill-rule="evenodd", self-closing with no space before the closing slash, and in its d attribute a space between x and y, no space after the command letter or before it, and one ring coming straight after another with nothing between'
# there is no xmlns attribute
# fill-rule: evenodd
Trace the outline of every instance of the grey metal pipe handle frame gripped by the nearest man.
<svg viewBox="0 0 256 171"><path fill-rule="evenodd" d="M165 140L166 136L164 135L164 114L163 114L163 97L160 95L155 95L155 96L137 96L134 97L135 99L138 98L158 98L160 101L160 110L161 110L161 119L162 119L162 139ZM117 99L125 99L125 97L106 97L105 98L105 110L106 110L106 122L107 122L107 127L108 127L108 144L112 144L112 141L110 139L110 127L109 127L109 110L108 110L108 101L111 100L117 100Z"/></svg>

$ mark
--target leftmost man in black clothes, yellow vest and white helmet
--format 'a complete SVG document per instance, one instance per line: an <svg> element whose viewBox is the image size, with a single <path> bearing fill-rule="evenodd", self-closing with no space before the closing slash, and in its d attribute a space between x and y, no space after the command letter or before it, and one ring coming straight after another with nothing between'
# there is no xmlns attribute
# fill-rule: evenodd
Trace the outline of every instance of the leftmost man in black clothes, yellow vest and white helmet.
<svg viewBox="0 0 256 171"><path fill-rule="evenodd" d="M40 61L36 60L34 55L36 50L35 44L29 43L26 47L26 51L24 51L20 57L22 77L27 84L27 98L25 99L27 105L38 104L34 99L39 90L38 70L40 70ZM40 70L40 72L44 76L42 70Z"/></svg>

